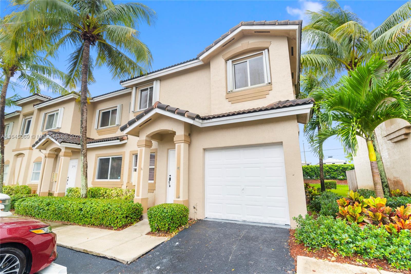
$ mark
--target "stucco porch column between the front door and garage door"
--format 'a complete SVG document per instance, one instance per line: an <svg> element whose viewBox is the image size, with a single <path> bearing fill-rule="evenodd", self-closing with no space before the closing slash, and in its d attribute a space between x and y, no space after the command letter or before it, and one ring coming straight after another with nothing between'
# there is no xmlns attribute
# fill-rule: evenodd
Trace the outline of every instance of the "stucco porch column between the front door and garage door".
<svg viewBox="0 0 411 274"><path fill-rule="evenodd" d="M188 207L188 135L175 135L175 204Z"/></svg>

